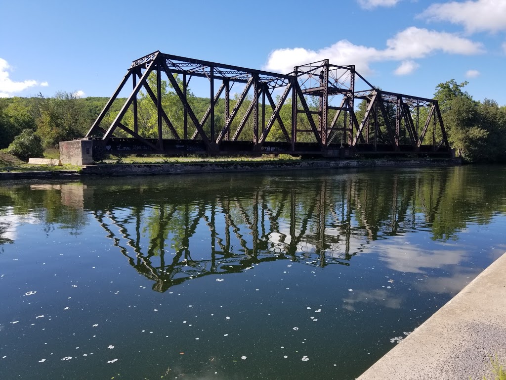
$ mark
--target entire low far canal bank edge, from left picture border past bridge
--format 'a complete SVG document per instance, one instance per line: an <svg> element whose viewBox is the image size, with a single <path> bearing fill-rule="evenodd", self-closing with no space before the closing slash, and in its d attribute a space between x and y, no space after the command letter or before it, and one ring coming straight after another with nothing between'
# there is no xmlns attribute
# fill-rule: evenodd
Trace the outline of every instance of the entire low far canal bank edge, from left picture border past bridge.
<svg viewBox="0 0 506 380"><path fill-rule="evenodd" d="M77 176L130 176L158 174L197 174L273 170L307 170L374 167L427 167L460 165L460 159L416 160L287 160L287 161L233 161L163 164L97 164L83 165L80 170L10 171L0 173L0 180L58 179Z"/></svg>

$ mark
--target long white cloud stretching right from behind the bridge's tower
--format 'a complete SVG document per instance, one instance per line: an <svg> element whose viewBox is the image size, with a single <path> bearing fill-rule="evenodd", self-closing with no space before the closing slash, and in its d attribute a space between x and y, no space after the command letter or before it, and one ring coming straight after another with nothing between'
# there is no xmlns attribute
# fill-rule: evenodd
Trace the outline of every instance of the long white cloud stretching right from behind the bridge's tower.
<svg viewBox="0 0 506 380"><path fill-rule="evenodd" d="M481 43L452 33L416 27L409 27L397 33L386 45L385 49L376 49L341 40L316 51L304 48L278 49L269 55L265 69L287 73L293 70L293 66L328 58L333 64L355 64L360 73L367 74L371 72L372 62L406 61L424 58L435 52L464 55L483 52Z"/></svg>

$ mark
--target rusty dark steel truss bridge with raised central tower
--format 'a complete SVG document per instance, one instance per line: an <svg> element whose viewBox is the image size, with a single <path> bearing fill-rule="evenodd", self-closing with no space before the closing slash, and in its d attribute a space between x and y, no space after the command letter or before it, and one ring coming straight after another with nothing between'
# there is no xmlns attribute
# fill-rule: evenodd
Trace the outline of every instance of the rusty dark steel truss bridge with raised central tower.
<svg viewBox="0 0 506 380"><path fill-rule="evenodd" d="M155 85L148 81L150 75L156 77ZM198 115L189 98L193 78L209 89L203 115ZM177 104L164 104L162 80L171 87ZM112 123L102 126L106 115L112 119L111 105L129 81L132 92L112 115ZM154 138L143 136L139 128L141 95L153 102ZM362 100L366 107L359 120L356 110ZM176 108L182 113L179 124L169 117ZM93 141L94 159L104 153L451 155L437 100L375 88L354 65L323 60L279 74L159 51L132 63L86 137Z"/></svg>

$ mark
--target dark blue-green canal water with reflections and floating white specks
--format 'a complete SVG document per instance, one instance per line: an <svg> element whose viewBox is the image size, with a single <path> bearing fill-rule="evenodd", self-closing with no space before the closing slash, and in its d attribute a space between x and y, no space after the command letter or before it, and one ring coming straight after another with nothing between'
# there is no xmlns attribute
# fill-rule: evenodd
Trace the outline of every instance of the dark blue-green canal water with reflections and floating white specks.
<svg viewBox="0 0 506 380"><path fill-rule="evenodd" d="M0 378L353 379L505 228L505 167L0 183Z"/></svg>

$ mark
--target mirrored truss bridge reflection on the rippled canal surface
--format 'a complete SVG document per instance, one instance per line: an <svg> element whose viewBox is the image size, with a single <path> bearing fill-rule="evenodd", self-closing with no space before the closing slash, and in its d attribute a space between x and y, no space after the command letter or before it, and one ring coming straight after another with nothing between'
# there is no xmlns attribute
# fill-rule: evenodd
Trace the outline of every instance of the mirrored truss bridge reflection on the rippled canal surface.
<svg viewBox="0 0 506 380"><path fill-rule="evenodd" d="M212 185L173 177L94 194L92 210L132 267L164 292L265 261L350 265L371 241L431 225L444 173L254 177L255 184L229 176Z"/></svg>

